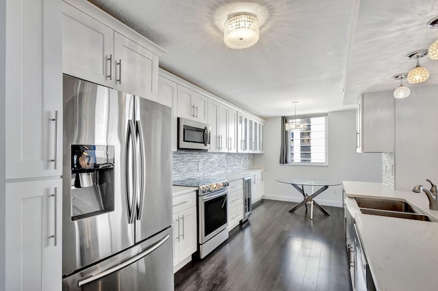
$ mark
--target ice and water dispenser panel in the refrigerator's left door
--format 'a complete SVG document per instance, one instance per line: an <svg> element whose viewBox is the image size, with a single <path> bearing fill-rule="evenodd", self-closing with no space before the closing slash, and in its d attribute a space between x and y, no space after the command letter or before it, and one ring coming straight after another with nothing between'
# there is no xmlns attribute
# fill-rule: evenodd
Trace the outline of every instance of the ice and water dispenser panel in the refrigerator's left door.
<svg viewBox="0 0 438 291"><path fill-rule="evenodd" d="M71 146L71 219L114 210L114 146Z"/></svg>

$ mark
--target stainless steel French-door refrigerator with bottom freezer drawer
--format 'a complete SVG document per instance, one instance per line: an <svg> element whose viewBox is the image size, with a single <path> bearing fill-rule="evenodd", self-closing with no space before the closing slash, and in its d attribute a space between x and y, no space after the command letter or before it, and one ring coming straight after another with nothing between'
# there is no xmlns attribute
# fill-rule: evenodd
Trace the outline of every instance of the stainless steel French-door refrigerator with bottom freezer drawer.
<svg viewBox="0 0 438 291"><path fill-rule="evenodd" d="M171 109L63 81L63 290L173 290Z"/></svg>

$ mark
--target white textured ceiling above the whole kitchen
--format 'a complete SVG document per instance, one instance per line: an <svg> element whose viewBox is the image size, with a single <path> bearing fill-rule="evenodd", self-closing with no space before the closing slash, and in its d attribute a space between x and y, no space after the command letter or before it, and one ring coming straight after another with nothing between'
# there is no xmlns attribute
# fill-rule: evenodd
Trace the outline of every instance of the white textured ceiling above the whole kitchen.
<svg viewBox="0 0 438 291"><path fill-rule="evenodd" d="M436 0L89 1L164 48L161 68L263 117L292 115L292 101L298 115L352 108L363 92L395 89L391 77L415 66L405 55L438 39L426 26ZM233 50L220 23L242 7L264 23L257 44ZM438 83L438 61L421 62L423 85Z"/></svg>

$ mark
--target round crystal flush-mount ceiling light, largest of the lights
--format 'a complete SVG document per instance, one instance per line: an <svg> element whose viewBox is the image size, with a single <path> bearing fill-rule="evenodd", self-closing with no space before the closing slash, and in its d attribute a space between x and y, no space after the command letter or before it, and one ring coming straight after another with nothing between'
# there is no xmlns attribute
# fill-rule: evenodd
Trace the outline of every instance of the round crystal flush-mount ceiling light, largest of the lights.
<svg viewBox="0 0 438 291"><path fill-rule="evenodd" d="M240 13L225 21L224 42L229 48L248 48L258 40L259 20L255 15Z"/></svg>

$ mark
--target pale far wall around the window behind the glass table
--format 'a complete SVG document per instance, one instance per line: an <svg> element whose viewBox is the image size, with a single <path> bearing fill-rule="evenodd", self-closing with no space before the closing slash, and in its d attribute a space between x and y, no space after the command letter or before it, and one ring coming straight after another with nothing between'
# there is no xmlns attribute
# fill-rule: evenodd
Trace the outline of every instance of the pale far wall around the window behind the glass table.
<svg viewBox="0 0 438 291"><path fill-rule="evenodd" d="M329 113L329 166L281 165L281 117L266 120L265 154L255 155L255 167L266 169L266 199L300 202L302 195L276 178L321 178L328 180L382 181L382 155L357 154L356 111ZM318 189L314 189L316 191ZM310 195L311 187L305 189ZM328 206L342 206L342 186L329 187L316 199Z"/></svg>

